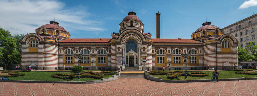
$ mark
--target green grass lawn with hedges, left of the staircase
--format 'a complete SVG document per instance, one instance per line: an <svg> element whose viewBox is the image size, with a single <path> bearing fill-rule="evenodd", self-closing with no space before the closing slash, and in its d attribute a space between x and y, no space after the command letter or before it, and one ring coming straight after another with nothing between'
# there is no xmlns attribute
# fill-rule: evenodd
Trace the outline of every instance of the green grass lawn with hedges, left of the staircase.
<svg viewBox="0 0 257 96"><path fill-rule="evenodd" d="M51 77L54 73L70 73L70 72L38 72L38 71L30 71L30 72L19 72L25 73L24 76L18 77L8 77L10 80L35 80L35 81L91 81L91 80L101 80L101 79L94 79L94 78L77 78L73 79L59 79ZM116 74L115 74L116 75ZM103 78L109 78L112 75L105 75Z"/></svg>

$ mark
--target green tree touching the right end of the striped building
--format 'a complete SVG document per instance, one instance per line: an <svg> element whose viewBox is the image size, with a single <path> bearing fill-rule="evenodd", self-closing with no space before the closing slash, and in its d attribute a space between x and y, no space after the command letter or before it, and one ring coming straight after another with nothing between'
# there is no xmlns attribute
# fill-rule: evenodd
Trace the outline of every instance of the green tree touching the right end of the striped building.
<svg viewBox="0 0 257 96"><path fill-rule="evenodd" d="M248 49L243 49L242 47L238 46L238 63L242 61L248 61L250 58Z"/></svg>

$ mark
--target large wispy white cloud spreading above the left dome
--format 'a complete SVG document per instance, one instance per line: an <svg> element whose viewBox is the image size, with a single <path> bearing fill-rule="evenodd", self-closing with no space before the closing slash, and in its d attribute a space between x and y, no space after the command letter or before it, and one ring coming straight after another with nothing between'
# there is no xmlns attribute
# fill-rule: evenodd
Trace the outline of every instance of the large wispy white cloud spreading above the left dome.
<svg viewBox="0 0 257 96"><path fill-rule="evenodd" d="M65 3L59 1L0 0L0 27L11 33L35 33L36 28L49 24L55 16L55 21L69 32L105 30L98 27L101 21L87 19L91 14L86 9L84 6L67 9Z"/></svg>

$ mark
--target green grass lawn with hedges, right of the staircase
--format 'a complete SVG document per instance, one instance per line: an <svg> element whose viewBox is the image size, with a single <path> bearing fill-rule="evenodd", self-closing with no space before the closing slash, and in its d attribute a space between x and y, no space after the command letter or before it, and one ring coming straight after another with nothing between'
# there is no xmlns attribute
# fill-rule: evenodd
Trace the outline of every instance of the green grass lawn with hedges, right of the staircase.
<svg viewBox="0 0 257 96"><path fill-rule="evenodd" d="M212 72L213 71L204 71L205 73L209 73L209 76L205 77L192 77L187 76L187 79L185 79L185 76L180 76L175 79L169 79L166 77L166 75L152 75L152 77L159 77L163 80L196 80L196 79L212 79ZM236 74L235 71L218 71L220 73L219 79L227 79L227 78L242 78L247 76L247 78L257 77L257 75L246 75L246 74ZM150 75L150 74L149 74Z"/></svg>

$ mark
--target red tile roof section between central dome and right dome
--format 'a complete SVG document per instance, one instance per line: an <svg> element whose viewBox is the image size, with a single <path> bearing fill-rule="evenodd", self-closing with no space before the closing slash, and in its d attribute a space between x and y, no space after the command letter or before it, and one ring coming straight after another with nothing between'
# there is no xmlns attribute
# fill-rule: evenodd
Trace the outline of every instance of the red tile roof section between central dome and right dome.
<svg viewBox="0 0 257 96"><path fill-rule="evenodd" d="M153 43L202 43L200 41L196 41L193 39L160 39L160 38L152 38Z"/></svg>

